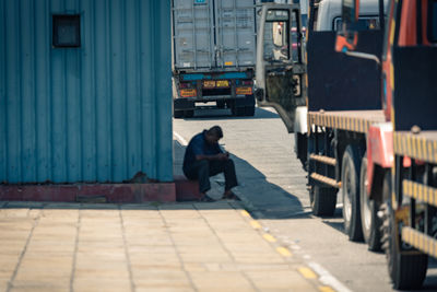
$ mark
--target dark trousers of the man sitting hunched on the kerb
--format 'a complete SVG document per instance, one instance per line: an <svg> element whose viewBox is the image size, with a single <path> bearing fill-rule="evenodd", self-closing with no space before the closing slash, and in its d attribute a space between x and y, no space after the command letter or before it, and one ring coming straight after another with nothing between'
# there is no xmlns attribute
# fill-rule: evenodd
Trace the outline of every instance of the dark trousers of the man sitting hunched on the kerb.
<svg viewBox="0 0 437 292"><path fill-rule="evenodd" d="M193 164L184 167L185 176L189 179L199 180L200 192L205 192L211 189L210 176L224 173L225 175L225 190L238 186L237 176L235 174L235 165L232 160L224 161L206 161L199 160Z"/></svg>

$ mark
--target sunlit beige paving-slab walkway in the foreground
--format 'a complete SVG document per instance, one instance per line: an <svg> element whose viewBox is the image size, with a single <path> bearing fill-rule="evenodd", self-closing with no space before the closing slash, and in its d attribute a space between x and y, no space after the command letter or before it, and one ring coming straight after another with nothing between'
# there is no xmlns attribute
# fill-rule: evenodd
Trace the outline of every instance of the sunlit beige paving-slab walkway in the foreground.
<svg viewBox="0 0 437 292"><path fill-rule="evenodd" d="M330 291L233 201L0 202L0 291Z"/></svg>

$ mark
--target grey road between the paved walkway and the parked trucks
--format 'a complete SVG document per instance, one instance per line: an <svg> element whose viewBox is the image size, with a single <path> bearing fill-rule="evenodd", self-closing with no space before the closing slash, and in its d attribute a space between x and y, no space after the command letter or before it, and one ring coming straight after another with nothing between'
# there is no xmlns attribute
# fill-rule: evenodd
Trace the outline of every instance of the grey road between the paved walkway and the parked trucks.
<svg viewBox="0 0 437 292"><path fill-rule="evenodd" d="M350 242L343 233L341 202L334 218L311 214L306 173L295 157L293 135L273 109L257 108L255 117L233 117L228 109L200 109L194 118L174 120L175 139L184 145L213 125L223 128L221 144L236 163L240 185L236 192L265 231L338 291L393 291L385 255L368 252L365 244ZM220 177L214 179L221 185ZM435 260L422 291L437 291Z"/></svg>

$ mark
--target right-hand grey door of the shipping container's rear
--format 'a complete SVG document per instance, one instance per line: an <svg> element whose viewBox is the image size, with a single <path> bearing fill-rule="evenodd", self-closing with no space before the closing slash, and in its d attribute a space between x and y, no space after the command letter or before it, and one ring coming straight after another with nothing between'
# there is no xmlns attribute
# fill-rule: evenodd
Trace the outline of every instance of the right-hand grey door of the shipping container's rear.
<svg viewBox="0 0 437 292"><path fill-rule="evenodd" d="M214 0L216 63L222 68L256 63L256 13L253 0Z"/></svg>

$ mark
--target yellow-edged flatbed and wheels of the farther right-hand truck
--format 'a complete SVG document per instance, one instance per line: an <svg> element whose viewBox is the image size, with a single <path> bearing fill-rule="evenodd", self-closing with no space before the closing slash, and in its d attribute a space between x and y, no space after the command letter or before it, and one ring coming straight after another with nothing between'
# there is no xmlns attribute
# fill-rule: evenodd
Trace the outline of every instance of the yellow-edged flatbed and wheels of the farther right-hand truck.
<svg viewBox="0 0 437 292"><path fill-rule="evenodd" d="M312 212L332 215L336 192L341 189L346 234L352 241L363 237L373 241L371 249L380 248L380 235L371 226L377 210L366 208L369 202L364 197L367 194L364 182L368 182L368 138L373 125L386 124L382 109L308 113L308 184Z"/></svg>

